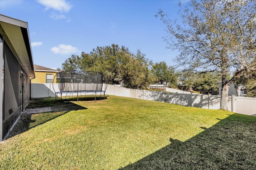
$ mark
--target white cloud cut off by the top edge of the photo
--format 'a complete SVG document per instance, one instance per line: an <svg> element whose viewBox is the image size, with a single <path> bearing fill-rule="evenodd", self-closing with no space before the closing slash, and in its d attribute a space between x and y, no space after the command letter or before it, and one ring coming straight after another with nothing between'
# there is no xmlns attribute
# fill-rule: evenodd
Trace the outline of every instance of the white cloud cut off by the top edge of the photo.
<svg viewBox="0 0 256 170"><path fill-rule="evenodd" d="M38 2L45 6L45 10L52 8L59 12L68 12L72 8L65 0L38 0Z"/></svg>

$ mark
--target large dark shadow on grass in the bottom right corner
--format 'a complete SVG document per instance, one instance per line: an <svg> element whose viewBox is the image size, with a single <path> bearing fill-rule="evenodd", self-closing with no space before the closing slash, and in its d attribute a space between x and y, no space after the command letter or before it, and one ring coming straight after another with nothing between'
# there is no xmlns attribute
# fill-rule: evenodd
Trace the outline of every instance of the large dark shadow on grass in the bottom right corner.
<svg viewBox="0 0 256 170"><path fill-rule="evenodd" d="M256 117L233 114L182 142L171 144L122 170L256 169Z"/></svg>

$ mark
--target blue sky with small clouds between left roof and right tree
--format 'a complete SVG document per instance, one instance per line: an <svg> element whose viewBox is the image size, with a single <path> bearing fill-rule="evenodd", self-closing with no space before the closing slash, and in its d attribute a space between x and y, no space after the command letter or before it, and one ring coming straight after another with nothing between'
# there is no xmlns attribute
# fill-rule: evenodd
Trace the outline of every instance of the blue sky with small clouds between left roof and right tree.
<svg viewBox="0 0 256 170"><path fill-rule="evenodd" d="M72 54L112 43L174 65L159 9L176 18L180 0L1 0L0 13L28 22L34 64L61 68Z"/></svg>

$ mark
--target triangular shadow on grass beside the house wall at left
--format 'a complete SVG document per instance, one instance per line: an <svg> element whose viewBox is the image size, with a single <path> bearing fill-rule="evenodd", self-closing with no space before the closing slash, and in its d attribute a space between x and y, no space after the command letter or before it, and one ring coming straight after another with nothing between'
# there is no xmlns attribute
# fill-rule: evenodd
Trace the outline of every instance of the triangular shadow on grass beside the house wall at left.
<svg viewBox="0 0 256 170"><path fill-rule="evenodd" d="M89 101L88 99L86 101ZM36 109L42 107L50 107L51 112L47 113L26 113L26 109ZM38 125L42 125L52 119L64 115L72 110L87 109L73 102L59 103L53 98L40 98L31 100L26 107L24 113L20 115L17 123L14 125L6 139L21 134Z"/></svg>

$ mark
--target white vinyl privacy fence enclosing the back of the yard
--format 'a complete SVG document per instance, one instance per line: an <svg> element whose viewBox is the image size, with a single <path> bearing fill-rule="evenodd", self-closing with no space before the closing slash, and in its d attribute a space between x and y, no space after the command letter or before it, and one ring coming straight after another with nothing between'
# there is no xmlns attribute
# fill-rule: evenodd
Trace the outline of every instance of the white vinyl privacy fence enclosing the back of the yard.
<svg viewBox="0 0 256 170"><path fill-rule="evenodd" d="M58 84L31 84L31 97L54 97L55 92L53 90L53 86L55 91L59 91ZM105 89L105 86L106 84L103 84L102 89ZM168 92L158 92L154 90L135 90L108 84L106 95L153 100L205 109L220 109L220 96L195 94L171 88L166 88L166 90L168 90ZM228 96L228 110L246 115L256 115L256 98Z"/></svg>

